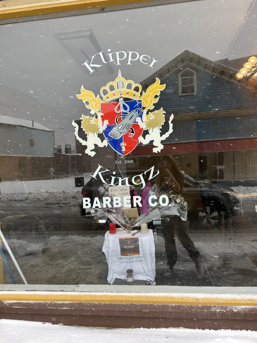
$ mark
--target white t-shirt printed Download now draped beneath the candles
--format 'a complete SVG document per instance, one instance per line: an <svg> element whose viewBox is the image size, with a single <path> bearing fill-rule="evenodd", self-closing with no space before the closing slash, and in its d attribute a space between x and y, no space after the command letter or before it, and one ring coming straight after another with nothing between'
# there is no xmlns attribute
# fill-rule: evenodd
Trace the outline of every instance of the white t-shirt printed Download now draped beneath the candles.
<svg viewBox="0 0 257 343"><path fill-rule="evenodd" d="M139 255L122 256L119 238L132 237L139 240ZM155 244L152 230L148 230L147 235L142 235L139 232L135 236L124 231L115 234L110 234L107 231L102 251L106 255L109 267L107 277L109 284L112 285L115 279L125 280L127 277L126 270L133 269L135 280L146 280L151 285L155 285Z"/></svg>

